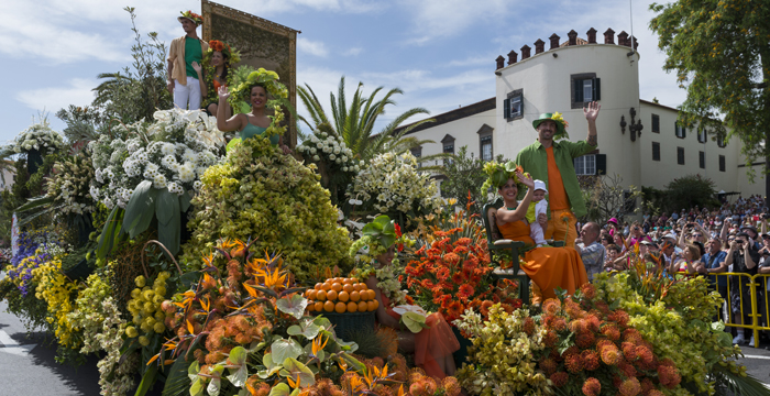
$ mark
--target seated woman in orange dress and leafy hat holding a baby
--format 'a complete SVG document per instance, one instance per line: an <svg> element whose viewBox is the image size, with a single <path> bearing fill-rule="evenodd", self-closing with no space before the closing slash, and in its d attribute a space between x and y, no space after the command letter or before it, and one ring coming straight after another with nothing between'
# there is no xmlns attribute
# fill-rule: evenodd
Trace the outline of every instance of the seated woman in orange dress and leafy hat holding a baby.
<svg viewBox="0 0 770 396"><path fill-rule="evenodd" d="M518 186L514 177L508 178L503 186L498 186L497 191L503 197L505 206L497 210L497 228L503 238L524 242L529 248L535 245L535 241L529 237L526 215L532 199L535 183L518 170L515 177L522 187L528 188L527 194L521 202L516 201ZM546 215L540 215L537 221L544 232L548 227ZM580 253L572 248L535 248L525 254L524 261L526 263L521 264L521 270L537 286L532 287L532 304L540 304L543 298L556 298L557 287L573 294L583 284L588 283Z"/></svg>

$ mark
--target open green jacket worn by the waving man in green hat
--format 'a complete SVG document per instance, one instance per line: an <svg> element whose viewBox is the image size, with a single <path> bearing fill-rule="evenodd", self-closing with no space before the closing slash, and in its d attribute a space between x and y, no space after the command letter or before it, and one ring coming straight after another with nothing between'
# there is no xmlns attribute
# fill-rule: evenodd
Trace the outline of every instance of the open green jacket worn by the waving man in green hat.
<svg viewBox="0 0 770 396"><path fill-rule="evenodd" d="M594 150L596 150L596 146L592 146L585 141L553 142L553 158L561 173L561 180L564 183L564 191L566 193L566 198L570 199L572 213L579 218L585 216L587 210L585 209L585 201L583 200L583 195L578 184L573 160ZM546 147L543 147L540 142L536 141L521 148L516 156L516 164L520 165L524 172L529 172L529 174L532 175L532 179L543 180L546 186L549 186L548 154L546 153ZM550 189L550 186L548 188ZM524 197L527 191L519 191L519 197Z"/></svg>

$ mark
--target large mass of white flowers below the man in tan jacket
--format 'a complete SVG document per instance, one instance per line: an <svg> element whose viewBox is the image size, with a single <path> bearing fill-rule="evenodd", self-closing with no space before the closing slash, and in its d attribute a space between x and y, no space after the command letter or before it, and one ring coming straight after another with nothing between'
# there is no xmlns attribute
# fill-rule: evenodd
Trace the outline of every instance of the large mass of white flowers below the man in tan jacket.
<svg viewBox="0 0 770 396"><path fill-rule="evenodd" d="M142 180L169 193L195 195L206 169L221 161L224 135L205 112L156 111L155 122L119 127L125 136L101 135L89 143L95 177L90 194L108 208L125 208Z"/></svg>

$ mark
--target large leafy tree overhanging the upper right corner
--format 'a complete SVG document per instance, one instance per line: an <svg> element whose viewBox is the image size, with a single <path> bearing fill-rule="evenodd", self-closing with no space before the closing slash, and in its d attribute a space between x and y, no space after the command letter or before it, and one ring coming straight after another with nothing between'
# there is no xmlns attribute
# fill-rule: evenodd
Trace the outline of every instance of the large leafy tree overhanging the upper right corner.
<svg viewBox="0 0 770 396"><path fill-rule="evenodd" d="M688 98L680 122L698 124L715 138L744 143L750 164L765 158L770 169L770 3L765 0L680 0L650 6L650 21L667 54L663 69L675 70ZM719 121L724 119L724 123ZM726 127L726 128L725 128ZM752 177L751 167L749 176ZM766 176L770 198L770 179Z"/></svg>

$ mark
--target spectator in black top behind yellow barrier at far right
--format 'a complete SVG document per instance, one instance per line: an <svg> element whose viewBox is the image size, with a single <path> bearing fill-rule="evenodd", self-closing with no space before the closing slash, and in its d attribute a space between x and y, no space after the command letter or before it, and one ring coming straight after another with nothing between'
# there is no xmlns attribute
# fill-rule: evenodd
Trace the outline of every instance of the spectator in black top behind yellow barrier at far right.
<svg viewBox="0 0 770 396"><path fill-rule="evenodd" d="M725 265L732 273L747 274L748 276L733 275L730 278L730 308L735 323L748 324L751 322L749 315L751 314L751 294L749 276L757 274L757 264L759 263L759 252L754 249L754 244L749 243L749 235L746 232L740 232L736 235L735 241L730 244L727 252ZM743 316L741 316L743 311ZM738 329L738 336L733 339L734 344L746 343L746 329ZM754 334L749 341L749 346L755 345Z"/></svg>

